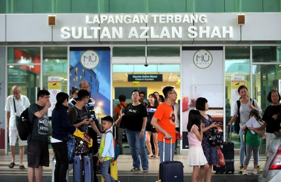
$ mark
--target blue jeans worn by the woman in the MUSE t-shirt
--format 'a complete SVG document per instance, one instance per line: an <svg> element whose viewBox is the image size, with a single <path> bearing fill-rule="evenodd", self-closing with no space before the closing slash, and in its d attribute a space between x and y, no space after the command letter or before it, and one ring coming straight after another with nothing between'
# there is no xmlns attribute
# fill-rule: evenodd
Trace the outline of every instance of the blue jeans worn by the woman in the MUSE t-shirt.
<svg viewBox="0 0 281 182"><path fill-rule="evenodd" d="M142 168L148 169L148 159L145 150L145 131L142 139L139 139L140 131L126 129L126 135L133 158L133 167L140 169L141 160ZM140 154L140 157L138 154Z"/></svg>

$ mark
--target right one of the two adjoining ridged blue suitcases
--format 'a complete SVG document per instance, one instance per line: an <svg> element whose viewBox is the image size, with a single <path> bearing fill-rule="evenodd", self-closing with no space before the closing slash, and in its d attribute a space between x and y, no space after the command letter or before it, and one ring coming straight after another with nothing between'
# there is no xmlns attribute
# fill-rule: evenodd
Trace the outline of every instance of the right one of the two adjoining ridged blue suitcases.
<svg viewBox="0 0 281 182"><path fill-rule="evenodd" d="M84 182L92 182L93 176L93 154L88 153L83 155L84 161Z"/></svg>

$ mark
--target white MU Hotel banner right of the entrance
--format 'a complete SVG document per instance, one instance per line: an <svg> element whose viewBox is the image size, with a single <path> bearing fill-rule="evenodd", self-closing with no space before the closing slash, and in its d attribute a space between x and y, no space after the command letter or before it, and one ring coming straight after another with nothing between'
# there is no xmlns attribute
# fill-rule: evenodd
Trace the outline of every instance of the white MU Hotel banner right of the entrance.
<svg viewBox="0 0 281 182"><path fill-rule="evenodd" d="M222 46L182 47L182 70L182 148L189 149L186 126L189 111L195 109L198 97L208 100L206 114L214 122L221 122L218 129L223 132Z"/></svg>

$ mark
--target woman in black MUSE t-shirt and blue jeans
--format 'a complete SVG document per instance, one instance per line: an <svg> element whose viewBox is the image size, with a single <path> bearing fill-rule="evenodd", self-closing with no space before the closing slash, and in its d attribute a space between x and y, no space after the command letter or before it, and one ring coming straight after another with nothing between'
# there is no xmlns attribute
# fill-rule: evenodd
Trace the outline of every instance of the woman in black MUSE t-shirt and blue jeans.
<svg viewBox="0 0 281 182"><path fill-rule="evenodd" d="M127 117L126 136L128 139L131 155L133 158L133 169L131 171L140 171L140 161L143 172L148 172L148 159L145 150L145 125L147 120L146 108L139 102L140 91L134 90L132 92L132 104L128 104L124 113L114 122L121 122L122 117ZM139 157L140 155L140 157Z"/></svg>

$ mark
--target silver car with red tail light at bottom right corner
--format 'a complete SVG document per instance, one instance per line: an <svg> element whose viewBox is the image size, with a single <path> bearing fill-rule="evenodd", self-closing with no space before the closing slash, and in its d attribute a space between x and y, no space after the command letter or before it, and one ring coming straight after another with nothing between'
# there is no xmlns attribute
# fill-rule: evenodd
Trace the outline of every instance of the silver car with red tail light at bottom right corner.
<svg viewBox="0 0 281 182"><path fill-rule="evenodd" d="M259 182L281 181L281 133L275 132L275 137L268 144L268 159L263 172L258 177Z"/></svg>

